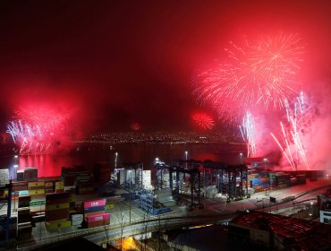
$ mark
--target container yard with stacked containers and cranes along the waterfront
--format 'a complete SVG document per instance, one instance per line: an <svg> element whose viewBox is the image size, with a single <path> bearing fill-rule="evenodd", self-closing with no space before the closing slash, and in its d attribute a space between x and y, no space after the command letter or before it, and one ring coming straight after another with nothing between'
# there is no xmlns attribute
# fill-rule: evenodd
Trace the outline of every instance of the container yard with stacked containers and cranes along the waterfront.
<svg viewBox="0 0 331 251"><path fill-rule="evenodd" d="M20 181L12 180L11 188L7 184L3 189L4 198L8 197L9 189L12 191L9 238L18 241L33 238L34 228L40 229L40 224L51 234L60 229L72 231L72 228L118 225L122 211L130 212L125 214L127 220L137 221L146 215L161 216L182 212L182 209L185 213L208 211L209 202L216 206L228 203L225 209L233 208L232 203L245 201L253 195L304 186L311 176L195 160L157 164L151 170L144 170L142 163L126 164L111 171L100 163L92 171L65 167L61 177L38 177L38 169L26 169L26 172L21 172L22 180L21 177ZM100 177L102 174L110 174L107 182ZM5 235L2 237L5 239Z"/></svg>

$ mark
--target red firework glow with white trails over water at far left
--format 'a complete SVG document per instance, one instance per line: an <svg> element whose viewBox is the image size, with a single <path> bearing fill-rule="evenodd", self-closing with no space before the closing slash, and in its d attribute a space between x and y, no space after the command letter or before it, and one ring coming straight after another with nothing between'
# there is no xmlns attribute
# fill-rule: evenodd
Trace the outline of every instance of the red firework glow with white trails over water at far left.
<svg viewBox="0 0 331 251"><path fill-rule="evenodd" d="M19 146L21 155L45 153L55 136L63 133L66 117L51 110L21 108L8 123L7 133Z"/></svg>

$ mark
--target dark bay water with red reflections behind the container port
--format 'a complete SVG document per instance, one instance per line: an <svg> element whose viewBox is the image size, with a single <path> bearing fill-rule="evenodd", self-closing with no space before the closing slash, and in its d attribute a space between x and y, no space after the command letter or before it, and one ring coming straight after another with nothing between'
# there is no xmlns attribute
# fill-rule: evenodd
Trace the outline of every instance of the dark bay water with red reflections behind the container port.
<svg viewBox="0 0 331 251"><path fill-rule="evenodd" d="M18 170L38 168L38 177L55 177L61 175L62 167L81 165L91 169L97 161L107 161L110 166L115 166L115 152L117 152L117 167L124 162L142 161L144 169L151 169L156 158L165 163L170 160L185 160L185 151L188 151L188 160L215 160L238 164L242 146L216 143L123 143L115 144L112 147L106 143L81 144L77 145L74 151L62 154L20 156L17 159L2 157L0 158L0 168L9 168L11 177L15 172L15 164L18 165Z"/></svg>

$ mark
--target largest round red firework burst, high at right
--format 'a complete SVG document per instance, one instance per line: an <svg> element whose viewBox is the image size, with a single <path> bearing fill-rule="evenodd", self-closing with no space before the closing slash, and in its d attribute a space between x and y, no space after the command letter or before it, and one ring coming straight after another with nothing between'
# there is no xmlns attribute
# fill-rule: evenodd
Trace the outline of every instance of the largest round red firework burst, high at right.
<svg viewBox="0 0 331 251"><path fill-rule="evenodd" d="M208 102L217 111L233 113L242 108L284 108L300 84L303 48L297 35L280 33L240 47L233 42L225 48L228 60L197 74L193 94L200 103ZM231 109L227 109L230 107Z"/></svg>

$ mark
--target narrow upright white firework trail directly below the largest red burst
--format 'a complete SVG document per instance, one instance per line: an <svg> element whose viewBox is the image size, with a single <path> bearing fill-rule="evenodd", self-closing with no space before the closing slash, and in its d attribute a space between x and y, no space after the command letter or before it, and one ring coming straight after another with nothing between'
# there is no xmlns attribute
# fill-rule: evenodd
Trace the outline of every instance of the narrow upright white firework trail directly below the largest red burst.
<svg viewBox="0 0 331 251"><path fill-rule="evenodd" d="M242 125L239 125L242 139L247 143L247 157L255 157L256 155L256 126L255 121L250 112L246 113L246 116L242 119Z"/></svg>

